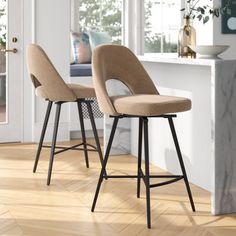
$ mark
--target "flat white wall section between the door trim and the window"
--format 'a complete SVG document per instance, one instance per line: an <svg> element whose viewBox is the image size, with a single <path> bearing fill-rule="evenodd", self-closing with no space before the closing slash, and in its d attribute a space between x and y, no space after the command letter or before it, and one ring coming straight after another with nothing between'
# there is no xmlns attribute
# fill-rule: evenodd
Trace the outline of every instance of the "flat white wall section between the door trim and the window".
<svg viewBox="0 0 236 236"><path fill-rule="evenodd" d="M36 1L35 40L47 52L62 78L69 81L70 64L70 1L68 0L37 0ZM35 136L42 127L46 109L45 101L36 100ZM62 106L59 139L69 139L68 105ZM54 114L51 115L49 127L52 128Z"/></svg>

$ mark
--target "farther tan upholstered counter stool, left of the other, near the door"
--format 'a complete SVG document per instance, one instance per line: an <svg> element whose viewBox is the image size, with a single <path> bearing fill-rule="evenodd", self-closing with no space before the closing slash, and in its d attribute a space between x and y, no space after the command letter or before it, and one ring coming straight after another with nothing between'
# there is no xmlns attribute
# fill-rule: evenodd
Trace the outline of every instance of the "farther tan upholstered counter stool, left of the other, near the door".
<svg viewBox="0 0 236 236"><path fill-rule="evenodd" d="M88 151L97 151L99 154L100 161L102 163L102 151L99 143L96 124L94 121L94 116L91 106L93 100L89 100L91 98L96 97L94 88L86 87L79 84L66 84L59 75L59 73L57 72L57 70L55 69L55 67L53 66L52 62L50 61L46 53L40 46L36 44L30 44L27 46L27 65L30 78L35 87L36 95L48 101L48 107L44 119L44 124L41 132L41 137L38 145L33 171L36 172L42 147L51 148L48 178L47 178L48 185L50 185L53 160L54 160L54 155L56 154L62 153L67 150L83 150L86 166L89 167ZM74 145L72 147L60 147L56 146L56 140L57 140L59 119L60 119L61 105L67 102L77 103L79 119L80 119L82 143ZM55 115L54 131L52 136L52 145L44 146L43 140L53 104L56 104L56 115ZM91 126L93 129L96 146L88 144L86 141L82 104L85 104L88 109L88 114L91 121ZM56 149L59 150L56 151Z"/></svg>

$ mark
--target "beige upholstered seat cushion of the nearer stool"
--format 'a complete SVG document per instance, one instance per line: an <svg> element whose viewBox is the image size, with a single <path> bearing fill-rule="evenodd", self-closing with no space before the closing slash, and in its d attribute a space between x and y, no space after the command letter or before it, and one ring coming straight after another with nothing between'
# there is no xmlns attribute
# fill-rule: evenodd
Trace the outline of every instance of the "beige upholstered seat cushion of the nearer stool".
<svg viewBox="0 0 236 236"><path fill-rule="evenodd" d="M137 116L158 116L188 111L191 101L187 98L162 95L113 96L111 101L117 113Z"/></svg>

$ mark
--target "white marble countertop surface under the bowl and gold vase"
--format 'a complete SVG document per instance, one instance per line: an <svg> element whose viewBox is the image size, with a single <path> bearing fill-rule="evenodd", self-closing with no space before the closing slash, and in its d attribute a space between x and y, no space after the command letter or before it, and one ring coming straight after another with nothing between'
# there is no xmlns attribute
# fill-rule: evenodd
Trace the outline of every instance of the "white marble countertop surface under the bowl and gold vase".
<svg viewBox="0 0 236 236"><path fill-rule="evenodd" d="M236 59L201 59L201 58L179 58L177 55L138 55L138 59L141 62L158 62L169 64L181 64L181 65L197 65L197 66L213 66L216 63L222 63L224 61L236 61Z"/></svg>

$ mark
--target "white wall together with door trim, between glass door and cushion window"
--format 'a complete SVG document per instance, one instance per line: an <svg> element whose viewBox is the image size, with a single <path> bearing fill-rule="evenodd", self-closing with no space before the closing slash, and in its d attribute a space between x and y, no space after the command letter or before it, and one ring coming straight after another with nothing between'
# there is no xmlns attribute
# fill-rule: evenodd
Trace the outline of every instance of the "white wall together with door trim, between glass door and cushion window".
<svg viewBox="0 0 236 236"><path fill-rule="evenodd" d="M70 1L69 0L24 0L24 42L25 47L35 42L43 47L63 79L69 81L70 62ZM35 21L35 24L34 24ZM29 81L25 68L25 77ZM34 98L29 82L24 85L24 141L34 141L39 136L44 119L46 102ZM53 113L49 129L53 126ZM31 124L31 125L30 125ZM64 105L58 139L69 138L69 110Z"/></svg>

